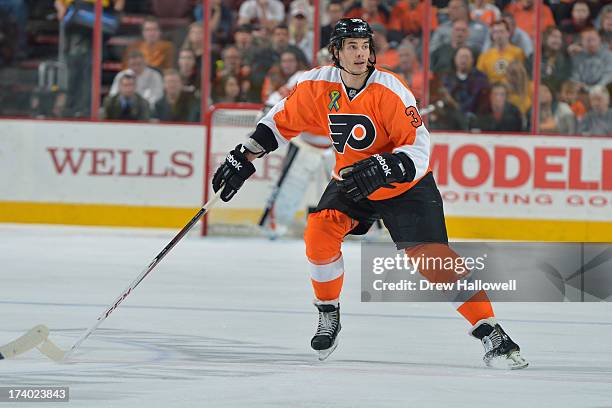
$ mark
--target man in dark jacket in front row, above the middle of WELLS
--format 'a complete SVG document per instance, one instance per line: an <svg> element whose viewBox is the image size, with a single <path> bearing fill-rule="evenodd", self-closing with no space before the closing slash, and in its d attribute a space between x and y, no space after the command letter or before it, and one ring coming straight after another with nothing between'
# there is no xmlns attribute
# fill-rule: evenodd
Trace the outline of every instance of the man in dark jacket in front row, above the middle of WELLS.
<svg viewBox="0 0 612 408"><path fill-rule="evenodd" d="M136 92L136 78L125 74L119 80L119 92L109 95L102 105L102 119L149 120L149 103Z"/></svg>

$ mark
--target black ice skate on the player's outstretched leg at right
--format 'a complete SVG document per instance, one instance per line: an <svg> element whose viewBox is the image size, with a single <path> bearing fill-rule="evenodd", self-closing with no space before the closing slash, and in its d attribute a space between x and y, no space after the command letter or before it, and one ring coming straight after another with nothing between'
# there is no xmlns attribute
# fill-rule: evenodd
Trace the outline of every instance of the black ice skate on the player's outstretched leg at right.
<svg viewBox="0 0 612 408"><path fill-rule="evenodd" d="M480 320L472 327L470 334L482 341L485 349L482 359L488 367L500 365L515 370L529 365L521 356L518 344L512 341L494 318Z"/></svg>

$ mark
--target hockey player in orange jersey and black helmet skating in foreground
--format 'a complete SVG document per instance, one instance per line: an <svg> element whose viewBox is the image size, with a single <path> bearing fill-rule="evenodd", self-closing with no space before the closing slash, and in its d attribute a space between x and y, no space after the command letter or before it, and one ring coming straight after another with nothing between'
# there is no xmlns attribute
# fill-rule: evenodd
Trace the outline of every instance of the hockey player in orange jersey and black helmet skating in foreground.
<svg viewBox="0 0 612 408"><path fill-rule="evenodd" d="M372 30L361 19L341 19L329 44L334 64L305 73L292 93L272 108L251 137L232 150L213 176L213 189L230 200L255 172L251 163L300 132L329 134L336 150L333 179L304 239L319 312L311 346L323 360L336 348L344 277L341 244L382 219L398 249L416 258L459 256L448 246L442 198L429 167L429 132L416 101L395 74L376 68ZM456 281L449 270L420 268L432 282ZM457 311L472 325L484 361L510 368L527 362L495 320L484 291L463 293Z"/></svg>

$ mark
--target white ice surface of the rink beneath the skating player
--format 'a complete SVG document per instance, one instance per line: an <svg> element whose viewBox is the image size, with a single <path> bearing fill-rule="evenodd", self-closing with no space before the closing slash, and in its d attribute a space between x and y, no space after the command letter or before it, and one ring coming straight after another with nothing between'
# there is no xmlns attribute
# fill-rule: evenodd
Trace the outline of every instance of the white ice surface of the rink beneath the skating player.
<svg viewBox="0 0 612 408"><path fill-rule="evenodd" d="M0 343L43 323L69 347L175 233L0 226ZM340 345L321 363L303 252L191 235L73 362L34 350L0 361L0 385L67 385L70 407L612 406L609 303L495 305L531 365L487 369L450 305L360 303L355 242Z"/></svg>

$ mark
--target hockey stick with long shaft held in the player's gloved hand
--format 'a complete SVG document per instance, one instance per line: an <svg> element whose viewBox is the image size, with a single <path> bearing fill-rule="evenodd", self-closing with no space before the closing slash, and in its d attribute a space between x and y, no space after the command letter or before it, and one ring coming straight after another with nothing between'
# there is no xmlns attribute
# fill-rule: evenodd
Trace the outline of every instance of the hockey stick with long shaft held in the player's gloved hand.
<svg viewBox="0 0 612 408"><path fill-rule="evenodd" d="M219 201L219 198L221 196L221 191L223 191L223 189L220 189L213 196L213 198L211 198L206 204L202 206L202 208L200 208L198 213L193 216L191 221L189 221L187 225L185 225L183 229L181 229L179 233L176 234L174 238L172 238L172 241L170 241L168 245L166 245L164 249L162 249L161 252L157 254L155 258L153 258L151 263L149 263L149 265L140 273L140 275L138 275L138 277L134 279L132 283L130 283L130 285L115 299L115 301L111 303L110 306L107 307L100 316L98 316L98 319L96 320L96 322L81 335L81 337L72 345L72 347L70 347L70 349L66 351L61 350L51 340L45 338L44 341L42 341L42 344L38 346L38 349L40 350L40 352L54 361L63 361L63 360L68 359L75 352L75 350L89 336L91 336L91 334L94 331L96 331L98 326L100 326L100 324L102 324L102 322L106 320L106 318L110 316L110 314L113 313L115 309L119 307L121 302L123 302L125 298L128 297L130 293L132 293L134 289L136 289L136 287L140 284L140 282L142 282L144 278L146 278L147 275L157 266L157 264L159 264L161 260L164 259L164 257L168 254L168 252L170 252L170 250L174 248L174 246L178 244L178 242L181 239L183 239L185 235L187 235L189 230L193 228L193 226L198 222L198 220L202 218L202 216L206 214L217 203L217 201Z"/></svg>

